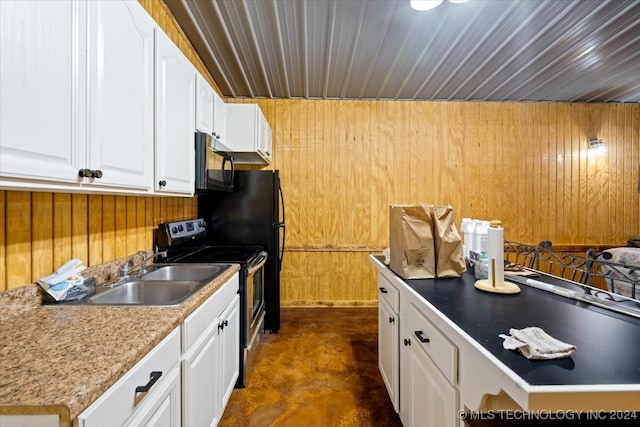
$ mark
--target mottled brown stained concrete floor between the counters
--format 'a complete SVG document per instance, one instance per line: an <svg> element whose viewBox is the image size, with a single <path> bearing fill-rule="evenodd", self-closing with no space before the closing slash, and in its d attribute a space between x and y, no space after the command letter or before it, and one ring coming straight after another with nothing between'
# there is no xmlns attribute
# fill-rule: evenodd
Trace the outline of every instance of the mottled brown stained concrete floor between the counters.
<svg viewBox="0 0 640 427"><path fill-rule="evenodd" d="M401 426L378 371L377 308L283 308L220 426Z"/></svg>

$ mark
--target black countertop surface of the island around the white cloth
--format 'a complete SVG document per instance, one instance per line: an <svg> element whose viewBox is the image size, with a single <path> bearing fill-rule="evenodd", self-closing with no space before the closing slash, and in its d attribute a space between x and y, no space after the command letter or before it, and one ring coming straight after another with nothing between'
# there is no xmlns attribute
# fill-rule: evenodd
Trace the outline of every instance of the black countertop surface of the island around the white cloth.
<svg viewBox="0 0 640 427"><path fill-rule="evenodd" d="M530 385L640 384L638 318L526 285L515 295L483 292L469 272L404 282ZM502 347L499 334L528 326L574 344L576 353L540 361Z"/></svg>

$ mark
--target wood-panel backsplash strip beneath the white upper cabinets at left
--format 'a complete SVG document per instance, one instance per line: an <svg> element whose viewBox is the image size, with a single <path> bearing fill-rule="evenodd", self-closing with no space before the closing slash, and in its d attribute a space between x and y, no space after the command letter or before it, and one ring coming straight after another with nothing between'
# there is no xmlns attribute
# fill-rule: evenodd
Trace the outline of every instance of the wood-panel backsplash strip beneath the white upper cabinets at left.
<svg viewBox="0 0 640 427"><path fill-rule="evenodd" d="M194 200L0 191L0 291L32 283L71 258L90 266L151 250L153 229L195 217ZM156 216L162 205L171 209Z"/></svg>

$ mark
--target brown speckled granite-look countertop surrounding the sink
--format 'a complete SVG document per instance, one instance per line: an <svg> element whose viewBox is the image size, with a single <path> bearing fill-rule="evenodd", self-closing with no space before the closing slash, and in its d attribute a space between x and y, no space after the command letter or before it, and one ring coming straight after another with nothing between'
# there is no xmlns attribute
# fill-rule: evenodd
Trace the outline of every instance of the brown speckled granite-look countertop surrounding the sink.
<svg viewBox="0 0 640 427"><path fill-rule="evenodd" d="M237 271L175 307L48 307L38 285L0 293L0 414L74 420Z"/></svg>

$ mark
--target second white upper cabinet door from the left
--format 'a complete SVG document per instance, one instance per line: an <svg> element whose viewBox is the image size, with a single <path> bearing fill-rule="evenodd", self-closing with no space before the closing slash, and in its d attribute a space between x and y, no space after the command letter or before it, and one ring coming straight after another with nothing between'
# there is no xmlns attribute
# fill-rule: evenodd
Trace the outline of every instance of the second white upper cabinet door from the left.
<svg viewBox="0 0 640 427"><path fill-rule="evenodd" d="M89 2L92 185L153 188L153 30L138 2Z"/></svg>

